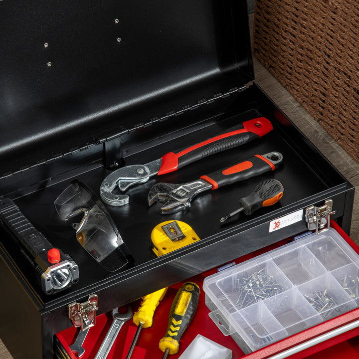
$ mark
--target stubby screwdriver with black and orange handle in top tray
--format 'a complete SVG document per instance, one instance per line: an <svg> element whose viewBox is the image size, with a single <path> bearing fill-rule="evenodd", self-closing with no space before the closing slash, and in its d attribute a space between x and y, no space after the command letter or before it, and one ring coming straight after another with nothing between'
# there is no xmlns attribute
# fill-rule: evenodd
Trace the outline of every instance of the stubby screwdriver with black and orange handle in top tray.
<svg viewBox="0 0 359 359"><path fill-rule="evenodd" d="M246 215L251 215L259 208L271 206L282 198L284 188L282 183L277 179L267 179L259 183L252 193L246 197L239 199L240 207L227 214L220 219L221 222L233 217L235 214L244 212Z"/></svg>

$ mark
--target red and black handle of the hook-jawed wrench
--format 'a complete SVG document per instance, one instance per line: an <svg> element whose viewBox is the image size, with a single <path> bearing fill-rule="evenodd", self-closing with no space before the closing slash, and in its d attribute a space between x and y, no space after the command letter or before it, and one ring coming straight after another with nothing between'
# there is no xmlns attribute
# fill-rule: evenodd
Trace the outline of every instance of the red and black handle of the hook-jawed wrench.
<svg viewBox="0 0 359 359"><path fill-rule="evenodd" d="M242 123L243 128L218 135L197 145L191 146L178 154L169 152L162 157L158 175L177 171L192 162L226 151L249 141L255 140L272 131L271 122L265 117Z"/></svg>

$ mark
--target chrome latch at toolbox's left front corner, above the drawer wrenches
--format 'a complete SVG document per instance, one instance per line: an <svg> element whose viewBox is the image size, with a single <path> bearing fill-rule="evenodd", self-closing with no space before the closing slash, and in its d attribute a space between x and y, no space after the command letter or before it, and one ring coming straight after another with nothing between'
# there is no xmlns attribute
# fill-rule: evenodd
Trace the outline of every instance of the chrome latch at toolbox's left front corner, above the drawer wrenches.
<svg viewBox="0 0 359 359"><path fill-rule="evenodd" d="M96 311L98 310L97 294L91 294L85 303L73 302L68 305L68 316L74 327L81 327L84 331L93 327L96 323Z"/></svg>

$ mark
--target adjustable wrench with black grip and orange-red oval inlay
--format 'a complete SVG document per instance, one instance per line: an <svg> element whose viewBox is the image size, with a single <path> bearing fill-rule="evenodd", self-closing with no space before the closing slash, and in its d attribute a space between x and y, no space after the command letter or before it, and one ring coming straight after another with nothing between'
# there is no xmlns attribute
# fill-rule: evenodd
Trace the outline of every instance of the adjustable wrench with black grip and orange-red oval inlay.
<svg viewBox="0 0 359 359"><path fill-rule="evenodd" d="M161 207L162 214L171 214L190 207L191 200L200 192L216 189L240 180L259 176L267 171L275 170L283 161L279 152L255 155L234 166L201 176L189 183L157 183L148 194L148 204L165 201Z"/></svg>

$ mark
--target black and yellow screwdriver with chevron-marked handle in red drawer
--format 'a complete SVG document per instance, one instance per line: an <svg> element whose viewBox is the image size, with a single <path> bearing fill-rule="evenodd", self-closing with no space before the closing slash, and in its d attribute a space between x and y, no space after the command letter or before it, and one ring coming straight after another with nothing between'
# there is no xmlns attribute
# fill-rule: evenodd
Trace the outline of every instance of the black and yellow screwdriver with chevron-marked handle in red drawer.
<svg viewBox="0 0 359 359"><path fill-rule="evenodd" d="M166 359L168 354L178 353L179 340L197 309L199 293L199 287L192 282L184 283L177 292L171 306L166 334L159 344L159 348L164 352L162 359Z"/></svg>

